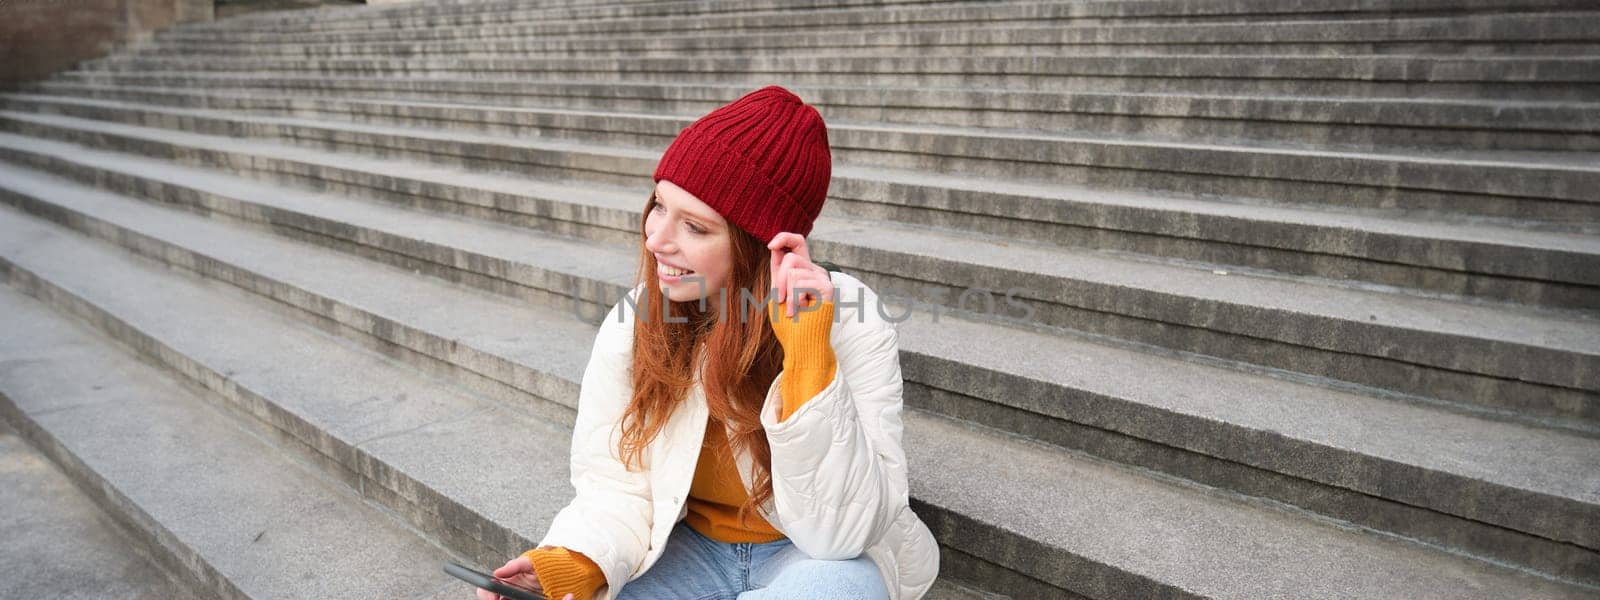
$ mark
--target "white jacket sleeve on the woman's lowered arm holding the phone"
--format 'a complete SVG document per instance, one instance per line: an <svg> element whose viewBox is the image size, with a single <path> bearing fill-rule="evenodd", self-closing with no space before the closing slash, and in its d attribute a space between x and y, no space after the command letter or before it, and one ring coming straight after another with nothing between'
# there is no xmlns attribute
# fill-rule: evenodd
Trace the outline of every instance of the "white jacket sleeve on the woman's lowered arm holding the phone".
<svg viewBox="0 0 1600 600"><path fill-rule="evenodd" d="M589 557L613 590L643 563L653 517L648 474L627 470L616 450L632 389L634 312L618 302L600 323L573 426L571 483L578 493L539 541L541 547L560 546Z"/></svg>

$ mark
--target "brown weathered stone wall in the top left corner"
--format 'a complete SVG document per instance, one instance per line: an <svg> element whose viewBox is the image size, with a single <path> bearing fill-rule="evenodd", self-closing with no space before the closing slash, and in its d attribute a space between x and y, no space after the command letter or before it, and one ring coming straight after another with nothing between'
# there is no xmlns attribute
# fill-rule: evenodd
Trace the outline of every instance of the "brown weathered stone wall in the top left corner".
<svg viewBox="0 0 1600 600"><path fill-rule="evenodd" d="M104 56L176 22L210 21L211 0L0 0L0 86Z"/></svg>

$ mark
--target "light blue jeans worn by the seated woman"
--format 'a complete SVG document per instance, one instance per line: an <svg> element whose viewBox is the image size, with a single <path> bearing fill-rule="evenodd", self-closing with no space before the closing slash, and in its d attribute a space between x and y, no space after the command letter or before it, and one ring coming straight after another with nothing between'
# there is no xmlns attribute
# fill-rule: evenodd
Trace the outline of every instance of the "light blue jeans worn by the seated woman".
<svg viewBox="0 0 1600 600"><path fill-rule="evenodd" d="M866 554L850 560L814 560L789 538L766 544L728 544L706 538L680 520L661 558L622 586L616 600L888 600L888 586Z"/></svg>

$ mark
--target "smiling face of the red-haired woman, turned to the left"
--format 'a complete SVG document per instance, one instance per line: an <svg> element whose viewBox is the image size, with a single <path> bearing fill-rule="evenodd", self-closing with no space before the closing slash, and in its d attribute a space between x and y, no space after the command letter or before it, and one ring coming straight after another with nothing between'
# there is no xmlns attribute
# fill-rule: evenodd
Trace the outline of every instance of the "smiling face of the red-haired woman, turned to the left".
<svg viewBox="0 0 1600 600"><path fill-rule="evenodd" d="M645 250L656 254L656 285L667 299L715 298L733 266L728 227L722 214L688 190L666 179L656 182L656 206L645 216ZM669 266L690 274L669 277Z"/></svg>

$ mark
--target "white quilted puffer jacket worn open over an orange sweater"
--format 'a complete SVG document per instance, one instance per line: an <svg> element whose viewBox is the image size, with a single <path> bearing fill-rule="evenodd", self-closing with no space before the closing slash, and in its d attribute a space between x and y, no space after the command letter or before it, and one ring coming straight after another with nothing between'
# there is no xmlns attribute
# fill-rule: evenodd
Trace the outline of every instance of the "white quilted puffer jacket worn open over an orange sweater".
<svg viewBox="0 0 1600 600"><path fill-rule="evenodd" d="M842 272L829 275L835 290L829 342L838 368L834 381L784 422L778 422L782 371L768 387L762 426L771 445L774 498L760 514L811 558L866 554L891 600L917 600L939 573L939 546L910 510L898 333L870 288ZM594 560L606 578L600 600L616 598L650 570L674 525L688 515L685 501L709 419L696 384L646 448L645 470L622 467L616 442L632 387L634 320L650 309L637 304L642 291L643 283L629 293L632 306L614 304L595 336L573 427L571 482L578 494L539 541ZM750 456L739 453L746 490L750 464Z"/></svg>

